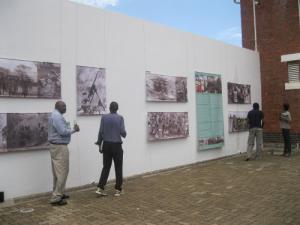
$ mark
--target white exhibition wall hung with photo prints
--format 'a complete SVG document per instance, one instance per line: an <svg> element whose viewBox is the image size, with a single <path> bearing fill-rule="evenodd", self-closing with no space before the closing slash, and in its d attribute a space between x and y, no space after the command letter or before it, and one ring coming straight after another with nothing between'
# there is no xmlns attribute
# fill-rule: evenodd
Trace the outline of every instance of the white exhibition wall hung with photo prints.
<svg viewBox="0 0 300 225"><path fill-rule="evenodd" d="M228 112L248 111L251 105L228 105L227 82L250 84L252 103L261 102L256 52L67 0L2 0L0 27L0 58L61 63L65 117L81 128L69 145L67 187L97 182L102 167L102 155L94 145L100 116L76 116L76 65L106 69L107 101L119 103L128 132L123 145L125 177L246 150L247 132L228 133ZM145 71L187 77L188 102L146 102ZM222 149L197 151L195 71L222 76ZM51 112L55 102L0 98L0 113ZM148 142L147 112L156 111L188 112L189 137ZM0 191L6 199L51 189L48 151L0 154Z"/></svg>

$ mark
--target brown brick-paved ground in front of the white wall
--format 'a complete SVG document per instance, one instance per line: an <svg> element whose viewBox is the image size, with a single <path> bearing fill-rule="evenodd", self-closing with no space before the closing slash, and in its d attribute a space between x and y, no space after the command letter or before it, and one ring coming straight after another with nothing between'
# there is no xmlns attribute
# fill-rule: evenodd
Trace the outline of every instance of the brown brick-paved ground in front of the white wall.
<svg viewBox="0 0 300 225"><path fill-rule="evenodd" d="M0 208L1 225L299 225L300 154L199 163L125 182L125 195L70 193L68 205L48 197ZM22 210L33 212L22 213Z"/></svg>

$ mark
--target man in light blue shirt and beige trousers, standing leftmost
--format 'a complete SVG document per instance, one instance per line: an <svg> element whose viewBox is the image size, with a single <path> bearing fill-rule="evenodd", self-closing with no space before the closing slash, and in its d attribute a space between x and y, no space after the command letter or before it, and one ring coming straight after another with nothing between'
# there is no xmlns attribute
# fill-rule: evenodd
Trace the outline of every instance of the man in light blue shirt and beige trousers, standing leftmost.
<svg viewBox="0 0 300 225"><path fill-rule="evenodd" d="M48 141L50 143L50 155L53 173L53 193L50 199L52 205L67 204L65 190L67 176L69 173L69 149L71 134L79 132L79 126L66 122L63 114L66 112L66 104L63 101L55 103L55 110L49 117Z"/></svg>

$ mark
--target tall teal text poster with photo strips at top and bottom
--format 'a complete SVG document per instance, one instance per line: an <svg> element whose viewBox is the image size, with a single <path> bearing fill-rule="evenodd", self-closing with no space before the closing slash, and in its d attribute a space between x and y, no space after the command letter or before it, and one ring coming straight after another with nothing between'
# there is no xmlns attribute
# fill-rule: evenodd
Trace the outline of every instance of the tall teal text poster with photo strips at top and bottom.
<svg viewBox="0 0 300 225"><path fill-rule="evenodd" d="M195 72L198 150L224 145L222 81L217 74Z"/></svg>

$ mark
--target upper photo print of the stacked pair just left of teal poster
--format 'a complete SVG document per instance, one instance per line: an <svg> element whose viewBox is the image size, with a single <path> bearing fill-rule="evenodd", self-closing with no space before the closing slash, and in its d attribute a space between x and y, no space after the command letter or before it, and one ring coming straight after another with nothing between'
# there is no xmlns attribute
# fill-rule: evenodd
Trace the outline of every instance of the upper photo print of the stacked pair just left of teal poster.
<svg viewBox="0 0 300 225"><path fill-rule="evenodd" d="M146 100L187 102L187 78L146 72Z"/></svg>

